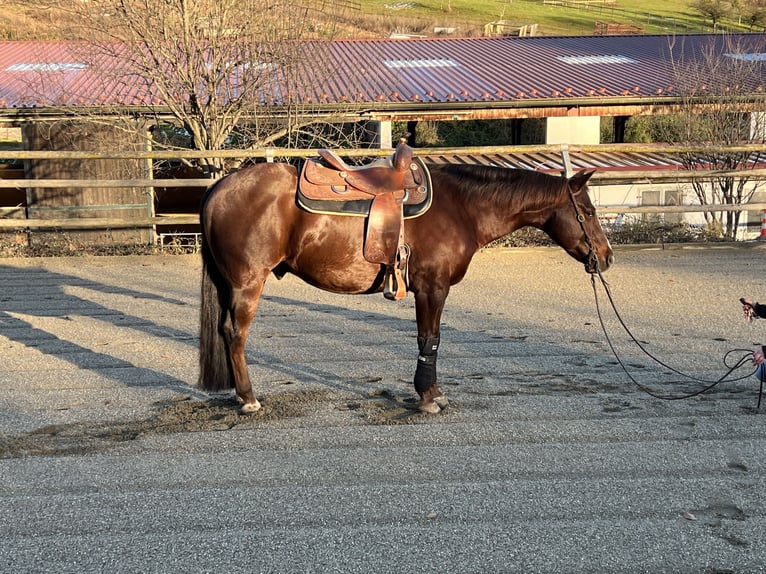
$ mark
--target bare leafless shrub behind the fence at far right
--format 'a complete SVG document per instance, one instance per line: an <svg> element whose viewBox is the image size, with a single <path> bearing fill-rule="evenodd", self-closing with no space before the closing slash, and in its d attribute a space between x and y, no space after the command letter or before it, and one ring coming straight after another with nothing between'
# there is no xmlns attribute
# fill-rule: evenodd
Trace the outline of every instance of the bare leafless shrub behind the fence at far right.
<svg viewBox="0 0 766 574"><path fill-rule="evenodd" d="M763 46L743 36L727 36L722 42L711 40L701 54L686 59L683 47L674 48L676 89L681 96L677 114L657 116L653 139L686 144L711 151L681 154L689 170L722 172L700 178L692 189L701 205L748 202L758 182L748 170L763 161L761 154L749 151L712 151L749 143L763 143L766 125L766 95L763 90L763 63L758 54ZM719 37L720 40L720 37ZM736 176L731 175L737 172ZM725 172L725 173L724 173ZM741 212L707 212L711 228L720 228L728 239L736 239Z"/></svg>

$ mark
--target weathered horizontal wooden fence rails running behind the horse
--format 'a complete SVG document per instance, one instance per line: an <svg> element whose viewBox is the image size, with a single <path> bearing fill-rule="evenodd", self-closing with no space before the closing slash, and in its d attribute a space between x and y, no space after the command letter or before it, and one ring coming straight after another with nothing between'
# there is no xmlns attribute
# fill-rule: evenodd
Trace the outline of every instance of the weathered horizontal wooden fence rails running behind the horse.
<svg viewBox="0 0 766 574"><path fill-rule="evenodd" d="M428 157L438 156L482 156L496 154L555 152L560 153L566 159L570 152L583 153L606 153L606 152L634 152L634 153L710 153L709 147L693 146L658 146L658 145L539 145L539 146L484 146L463 148L428 148L420 149L421 155ZM719 149L723 152L752 152L766 153L766 145L751 144L742 146L729 146ZM343 150L345 157L373 158L389 155L391 150L355 149ZM5 160L28 160L28 159L195 159L203 157L221 157L233 159L257 159L273 161L274 158L301 158L316 156L317 150L295 149L263 149L263 150L226 150L219 152L204 151L145 151L145 152L88 152L88 151L2 151L0 156ZM566 163L566 161L565 161ZM635 170L600 170L591 179L592 185L610 185L617 183L670 183L690 182L692 180L705 180L713 177L741 177L746 175L749 179L766 180L766 169L748 169L747 171L688 171L682 169L635 169ZM75 180L75 179L0 179L0 194L3 189L35 188L72 188L72 187L145 187L148 193L153 193L155 188L199 188L210 185L214 180L210 179L124 179L124 180ZM154 227L163 225L195 225L199 223L196 213L182 213L174 215L158 215L139 218L61 218L61 219L26 219L20 217L24 212L23 206L0 208L0 232L13 230L83 230L83 229L124 229ZM597 208L598 214L647 214L647 213L699 213L699 212L724 212L724 211L757 211L766 210L766 203L745 204L716 204L716 205L602 205Z"/></svg>

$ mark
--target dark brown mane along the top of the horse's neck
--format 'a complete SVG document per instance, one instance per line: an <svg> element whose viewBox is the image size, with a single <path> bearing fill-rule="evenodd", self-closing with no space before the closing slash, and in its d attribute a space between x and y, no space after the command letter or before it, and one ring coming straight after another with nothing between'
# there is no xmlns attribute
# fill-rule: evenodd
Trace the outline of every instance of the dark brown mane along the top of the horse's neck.
<svg viewBox="0 0 766 574"><path fill-rule="evenodd" d="M563 189L561 179L526 169L466 164L444 164L431 169L448 174L467 201L501 205L513 201L535 209L550 205L551 197Z"/></svg>

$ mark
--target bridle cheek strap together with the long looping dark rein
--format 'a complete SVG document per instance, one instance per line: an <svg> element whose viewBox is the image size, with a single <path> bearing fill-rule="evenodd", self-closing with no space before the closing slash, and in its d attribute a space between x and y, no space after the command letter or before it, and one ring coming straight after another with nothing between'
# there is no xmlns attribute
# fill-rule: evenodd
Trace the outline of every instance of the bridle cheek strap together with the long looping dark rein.
<svg viewBox="0 0 766 574"><path fill-rule="evenodd" d="M642 345L641 342L638 339L636 339L636 337L630 331L628 326L625 324L625 321L622 319L622 316L620 315L620 312L617 310L617 305L615 304L614 298L612 297L612 291L609 288L609 284L606 282L606 280L604 279L604 276L601 274L601 268L600 268L600 264L599 264L599 261L598 261L598 255L596 254L596 252L595 252L595 250L593 248L593 242L591 241L590 234L588 233L588 230L585 228L585 216L582 214L582 212L580 211L579 206L577 205L577 201L575 200L574 192L572 191L572 187L570 185L567 185L567 190L569 192L569 198L572 200L572 206L574 207L575 214L577 216L577 221L580 223L580 228L582 229L583 234L585 235L585 243L588 245L588 260L587 260L587 263L586 263L586 270L588 270L588 271L590 271L591 269L593 270L593 272L591 272L590 282L591 282L591 286L593 288L593 297L594 297L595 302L596 302L596 313L598 315L599 324L601 325L601 330L604 333L604 337L606 338L607 344L609 345L609 348L612 351L612 354L614 355L614 358L617 360L617 362L619 363L620 367L622 368L622 370L627 375L628 379L630 379L630 381L634 385L636 385L636 387L638 387L640 390L642 390L646 394L648 394L648 395L650 395L650 396L652 396L652 397L654 397L656 399L661 399L661 400L665 400L665 401L678 401L678 400L690 399L692 397L699 396L699 395L701 395L703 393L706 393L706 392L710 391L711 389L713 389L714 387L720 385L721 383L730 383L730 382L735 382L735 381L741 381L741 380L744 380L744 379L746 379L748 377L751 377L751 376L753 376L755 374L755 369L753 369L752 372L750 372L750 373L748 373L748 374L746 374L746 375L744 375L742 377L731 378L731 379L729 378L729 376L734 371L742 368L742 366L745 365L748 360L752 360L753 352L748 350L748 349L732 349L730 351L727 351L724 354L722 361L723 361L724 366L726 368L728 368L728 371L723 376L721 376L720 378L718 378L718 379L716 379L714 381L705 380L705 379L699 379L699 378L693 377L693 376L691 376L689 374L686 374L686 373L684 373L682 371L679 371L678 369L675 369L675 368L671 367L670 365L664 363L663 361L661 361L660 359L655 357L652 353L647 351L646 348L644 347L644 345ZM614 311L615 317L617 318L617 320L619 321L619 323L622 326L622 328L625 330L625 332L630 337L630 340L633 341L636 344L636 346L647 357L652 359L655 363L665 367L666 369L670 370L671 372L673 372L673 373L675 373L677 375L680 375L680 376L682 376L682 377L684 377L686 379L689 379L690 381L704 384L705 386L702 389L694 391L694 392L691 392L691 393L681 394L681 395L661 395L661 394L651 390L650 388L646 387L645 385L642 385L641 383L639 383L633 377L633 375L630 374L630 372L628 371L627 367L625 366L625 363L622 361L622 359L620 359L619 355L617 354L617 350L615 349L614 344L612 343L612 339L609 337L609 332L607 331L606 324L604 323L604 318L603 318L603 316L601 314L601 305L599 304L598 289L596 288L596 278L595 278L596 275L598 275L598 278L601 281L601 285L603 286L604 292L606 293L607 298L609 299L609 304L612 307L612 311ZM734 353L741 353L742 356L733 365L730 366L729 365L729 357L731 355L733 355ZM762 375L760 377L760 388L759 388L759 391L758 391L758 406L757 406L757 408L759 408L759 409L761 408L761 398L763 397L764 383L766 383L766 375L763 374L763 370L761 371L761 373L762 373Z"/></svg>

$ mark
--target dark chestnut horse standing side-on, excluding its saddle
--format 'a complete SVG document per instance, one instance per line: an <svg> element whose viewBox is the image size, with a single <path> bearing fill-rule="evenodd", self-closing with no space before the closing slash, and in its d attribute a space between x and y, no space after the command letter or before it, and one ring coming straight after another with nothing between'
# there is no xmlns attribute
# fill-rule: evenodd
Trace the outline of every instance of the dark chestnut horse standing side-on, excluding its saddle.
<svg viewBox="0 0 766 574"><path fill-rule="evenodd" d="M545 231L588 273L606 270L612 249L588 197L595 170L571 178L474 165L431 165L433 201L405 220L411 248L408 291L415 297L418 362L415 390L421 411L447 400L436 381L439 323L450 287L482 246L523 226ZM309 213L296 204L298 172L261 163L232 173L202 200L202 302L199 383L209 391L236 389L245 412L253 394L245 342L264 283L273 273L310 285L360 295L382 291L384 266L362 255L365 220Z"/></svg>

